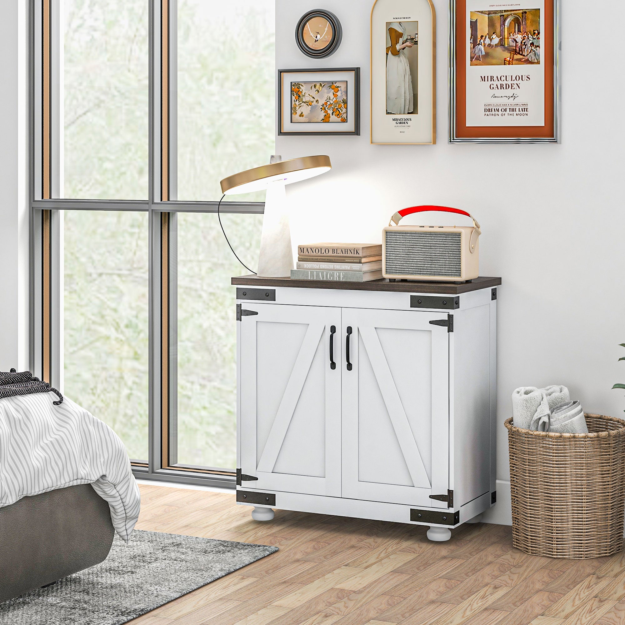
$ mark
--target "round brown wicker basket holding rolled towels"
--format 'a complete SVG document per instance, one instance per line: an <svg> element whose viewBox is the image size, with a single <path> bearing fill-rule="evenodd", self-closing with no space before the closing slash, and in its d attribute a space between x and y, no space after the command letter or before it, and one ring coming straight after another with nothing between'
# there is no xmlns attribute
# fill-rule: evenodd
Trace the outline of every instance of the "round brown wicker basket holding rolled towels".
<svg viewBox="0 0 625 625"><path fill-rule="evenodd" d="M506 421L512 539L528 554L587 558L623 548L625 421L586 414L589 434Z"/></svg>

